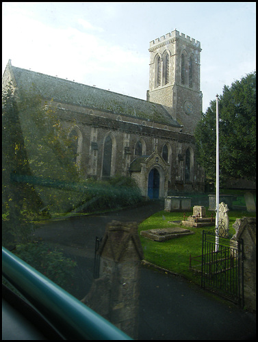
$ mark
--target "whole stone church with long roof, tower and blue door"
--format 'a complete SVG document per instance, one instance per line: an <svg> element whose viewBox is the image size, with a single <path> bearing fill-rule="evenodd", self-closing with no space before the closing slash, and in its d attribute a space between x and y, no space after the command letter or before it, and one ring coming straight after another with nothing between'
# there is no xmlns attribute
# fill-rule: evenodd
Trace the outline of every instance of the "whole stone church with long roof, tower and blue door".
<svg viewBox="0 0 258 342"><path fill-rule="evenodd" d="M135 179L143 196L203 192L194 129L201 119L200 42L175 30L150 42L146 101L12 66L2 83L32 85L54 105L75 137L85 178L116 174Z"/></svg>

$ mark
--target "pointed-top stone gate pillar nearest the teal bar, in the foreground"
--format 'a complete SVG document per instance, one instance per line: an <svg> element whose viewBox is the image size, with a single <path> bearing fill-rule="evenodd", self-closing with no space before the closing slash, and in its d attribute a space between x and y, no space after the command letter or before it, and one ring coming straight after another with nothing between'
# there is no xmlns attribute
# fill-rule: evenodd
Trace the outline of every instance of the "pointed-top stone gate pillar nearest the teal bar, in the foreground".
<svg viewBox="0 0 258 342"><path fill-rule="evenodd" d="M139 266L143 251L136 222L107 224L98 252L99 278L94 280L82 302L137 339Z"/></svg>

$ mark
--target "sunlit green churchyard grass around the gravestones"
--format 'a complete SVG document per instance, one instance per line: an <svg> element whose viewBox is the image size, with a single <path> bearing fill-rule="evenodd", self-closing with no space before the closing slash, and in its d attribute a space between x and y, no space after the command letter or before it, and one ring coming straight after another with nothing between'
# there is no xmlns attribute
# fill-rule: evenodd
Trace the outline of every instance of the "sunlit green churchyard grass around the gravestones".
<svg viewBox="0 0 258 342"><path fill-rule="evenodd" d="M207 216L210 216L211 213L213 213L215 218L215 212L208 211L208 207L206 208L206 213ZM187 220L190 215L192 215L192 212L185 212L185 220ZM248 213L247 211L229 211L228 215L229 237L235 234L233 223L237 218L242 218L244 216L256 217L256 213ZM169 221L177 220L183 220L182 212L169 213L166 211L159 211L139 225L139 235L140 231L147 231L153 228L172 228L179 226L181 228L188 228L180 224L168 223ZM211 231L213 228L214 226L201 228L191 227L189 229L190 231L193 231L194 234L170 239L164 242L153 241L140 235L140 241L144 251L144 260L164 269L168 269L170 272L179 274L196 282L198 285L201 285L201 274L194 272L189 268L190 254L191 257L197 257L202 254L203 231ZM197 264L198 262L192 261L193 267ZM200 266L198 268L201 269Z"/></svg>

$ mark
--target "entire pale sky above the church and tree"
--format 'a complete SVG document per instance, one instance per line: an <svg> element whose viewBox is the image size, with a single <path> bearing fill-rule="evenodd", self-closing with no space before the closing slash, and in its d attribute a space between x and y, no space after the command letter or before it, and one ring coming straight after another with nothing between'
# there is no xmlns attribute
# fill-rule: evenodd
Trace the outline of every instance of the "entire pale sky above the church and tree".
<svg viewBox="0 0 258 342"><path fill-rule="evenodd" d="M13 66L146 100L149 43L201 42L203 112L256 70L255 2L3 2L2 74Z"/></svg>

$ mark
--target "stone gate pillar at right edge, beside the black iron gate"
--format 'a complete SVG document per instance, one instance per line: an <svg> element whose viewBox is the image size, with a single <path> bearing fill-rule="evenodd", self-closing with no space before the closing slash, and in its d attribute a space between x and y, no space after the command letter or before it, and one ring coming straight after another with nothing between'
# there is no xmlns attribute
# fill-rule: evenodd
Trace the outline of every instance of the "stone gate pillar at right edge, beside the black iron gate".
<svg viewBox="0 0 258 342"><path fill-rule="evenodd" d="M256 311L256 218L237 218L233 228L244 241L244 306Z"/></svg>

